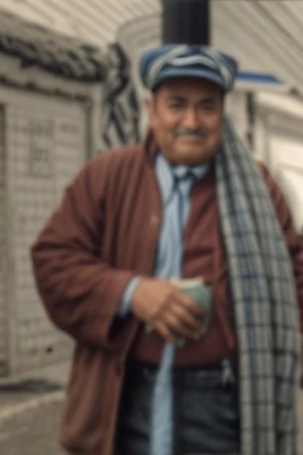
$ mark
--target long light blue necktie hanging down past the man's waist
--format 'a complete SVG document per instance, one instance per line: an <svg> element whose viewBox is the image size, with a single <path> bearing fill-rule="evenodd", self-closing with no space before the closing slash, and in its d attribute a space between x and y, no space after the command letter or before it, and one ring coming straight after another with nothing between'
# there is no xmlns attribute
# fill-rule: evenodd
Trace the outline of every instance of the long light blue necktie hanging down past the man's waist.
<svg viewBox="0 0 303 455"><path fill-rule="evenodd" d="M179 241L182 245L183 227L185 223L185 203L195 179L187 168L174 169L175 185L171 203L176 203L175 219L179 231ZM179 261L179 276L181 276L181 258ZM167 342L161 356L160 367L152 401L152 428L150 455L172 455L173 453L173 378L172 369L176 356L176 345Z"/></svg>

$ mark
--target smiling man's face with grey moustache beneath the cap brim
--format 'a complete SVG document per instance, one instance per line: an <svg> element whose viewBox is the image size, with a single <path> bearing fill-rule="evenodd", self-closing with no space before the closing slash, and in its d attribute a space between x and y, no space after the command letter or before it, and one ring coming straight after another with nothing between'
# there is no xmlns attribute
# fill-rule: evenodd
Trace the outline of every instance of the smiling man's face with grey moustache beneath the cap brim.
<svg viewBox="0 0 303 455"><path fill-rule="evenodd" d="M221 89L202 79L169 79L148 105L150 127L168 161L202 164L217 154L222 135Z"/></svg>

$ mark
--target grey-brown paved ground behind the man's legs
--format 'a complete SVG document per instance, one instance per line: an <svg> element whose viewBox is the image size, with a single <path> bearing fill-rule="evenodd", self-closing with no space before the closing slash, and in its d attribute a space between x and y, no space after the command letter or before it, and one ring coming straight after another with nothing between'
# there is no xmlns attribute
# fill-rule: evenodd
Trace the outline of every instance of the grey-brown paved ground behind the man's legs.
<svg viewBox="0 0 303 455"><path fill-rule="evenodd" d="M66 365L55 366L53 372L48 370L47 380L0 383L1 455L66 455L58 446L56 435L67 369ZM298 392L298 410L298 455L303 455L303 390Z"/></svg>

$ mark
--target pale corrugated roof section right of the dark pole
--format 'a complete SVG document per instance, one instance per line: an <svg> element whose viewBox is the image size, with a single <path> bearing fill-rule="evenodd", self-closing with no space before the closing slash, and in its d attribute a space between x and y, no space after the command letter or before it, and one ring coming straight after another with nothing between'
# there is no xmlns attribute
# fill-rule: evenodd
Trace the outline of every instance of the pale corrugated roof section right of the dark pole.
<svg viewBox="0 0 303 455"><path fill-rule="evenodd" d="M272 73L303 88L303 2L217 0L213 5L214 45L236 56L243 70Z"/></svg>

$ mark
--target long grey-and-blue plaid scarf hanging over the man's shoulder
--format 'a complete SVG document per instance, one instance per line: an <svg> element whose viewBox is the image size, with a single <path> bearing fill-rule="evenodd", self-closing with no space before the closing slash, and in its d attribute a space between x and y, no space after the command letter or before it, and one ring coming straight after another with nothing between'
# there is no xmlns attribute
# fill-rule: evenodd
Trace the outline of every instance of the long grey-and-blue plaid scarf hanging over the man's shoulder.
<svg viewBox="0 0 303 455"><path fill-rule="evenodd" d="M298 299L288 248L258 166L227 121L216 159L239 349L241 455L296 455Z"/></svg>

